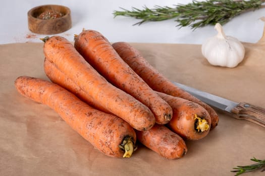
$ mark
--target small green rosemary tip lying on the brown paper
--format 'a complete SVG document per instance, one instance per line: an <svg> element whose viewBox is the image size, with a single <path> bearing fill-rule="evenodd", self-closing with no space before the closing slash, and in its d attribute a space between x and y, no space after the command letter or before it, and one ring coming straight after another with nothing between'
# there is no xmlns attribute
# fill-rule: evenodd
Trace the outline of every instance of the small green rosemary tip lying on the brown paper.
<svg viewBox="0 0 265 176"><path fill-rule="evenodd" d="M250 160L257 163L250 165L238 165L237 167L234 167L233 169L235 170L231 170L231 172L237 172L235 175L240 175L242 173L250 172L265 166L265 160L256 159L255 157L251 158ZM261 171L265 171L265 168Z"/></svg>

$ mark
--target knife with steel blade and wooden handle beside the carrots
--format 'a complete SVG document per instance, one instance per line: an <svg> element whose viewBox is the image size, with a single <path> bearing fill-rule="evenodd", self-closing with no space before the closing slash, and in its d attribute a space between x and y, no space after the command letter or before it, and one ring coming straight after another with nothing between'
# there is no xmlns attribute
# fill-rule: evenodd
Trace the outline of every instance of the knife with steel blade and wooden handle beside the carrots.
<svg viewBox="0 0 265 176"><path fill-rule="evenodd" d="M265 127L265 109L261 107L257 107L245 102L233 102L213 94L199 91L193 87L189 87L178 82L173 83L180 87L180 89L183 89L209 106L231 113L231 115L233 115L233 117L236 119L248 120Z"/></svg>

